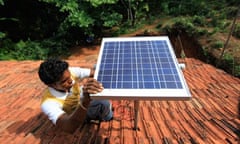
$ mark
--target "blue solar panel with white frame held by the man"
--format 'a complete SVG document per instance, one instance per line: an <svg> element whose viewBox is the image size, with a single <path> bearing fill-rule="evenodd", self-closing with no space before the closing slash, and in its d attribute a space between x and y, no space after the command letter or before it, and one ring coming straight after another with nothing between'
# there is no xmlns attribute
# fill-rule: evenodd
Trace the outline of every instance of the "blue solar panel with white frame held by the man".
<svg viewBox="0 0 240 144"><path fill-rule="evenodd" d="M188 99L190 93L167 36L103 38L93 99Z"/></svg>

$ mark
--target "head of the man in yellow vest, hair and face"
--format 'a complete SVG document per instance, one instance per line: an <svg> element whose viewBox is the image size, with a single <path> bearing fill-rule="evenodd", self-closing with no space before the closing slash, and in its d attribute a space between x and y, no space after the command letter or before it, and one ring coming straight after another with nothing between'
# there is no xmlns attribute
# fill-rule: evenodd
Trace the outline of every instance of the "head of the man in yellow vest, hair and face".
<svg viewBox="0 0 240 144"><path fill-rule="evenodd" d="M40 64L38 75L41 81L57 90L67 91L72 86L69 64L59 59L47 59Z"/></svg>

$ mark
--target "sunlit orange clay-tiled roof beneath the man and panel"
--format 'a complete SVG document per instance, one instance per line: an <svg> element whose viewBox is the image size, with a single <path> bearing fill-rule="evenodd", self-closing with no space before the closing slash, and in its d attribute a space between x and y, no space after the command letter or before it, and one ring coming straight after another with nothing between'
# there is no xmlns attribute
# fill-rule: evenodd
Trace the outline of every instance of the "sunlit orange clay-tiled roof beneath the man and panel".
<svg viewBox="0 0 240 144"><path fill-rule="evenodd" d="M62 132L40 110L46 86L38 79L41 61L0 61L0 142L29 144L237 143L240 140L240 79L199 60L185 63L188 101L140 101L138 130L130 100L114 100L114 119ZM70 65L92 62L69 60Z"/></svg>

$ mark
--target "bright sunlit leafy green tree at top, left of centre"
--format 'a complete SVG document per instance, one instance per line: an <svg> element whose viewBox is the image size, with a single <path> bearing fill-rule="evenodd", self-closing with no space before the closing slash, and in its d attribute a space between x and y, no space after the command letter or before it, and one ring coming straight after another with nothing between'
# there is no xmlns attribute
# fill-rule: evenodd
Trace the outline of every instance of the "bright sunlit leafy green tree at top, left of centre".
<svg viewBox="0 0 240 144"><path fill-rule="evenodd" d="M40 1L55 4L62 13L65 13L66 17L59 28L62 33L67 32L71 28L77 28L85 35L94 35L96 27L111 27L119 24L119 21L121 21L121 15L108 7L108 5L115 4L117 0Z"/></svg>

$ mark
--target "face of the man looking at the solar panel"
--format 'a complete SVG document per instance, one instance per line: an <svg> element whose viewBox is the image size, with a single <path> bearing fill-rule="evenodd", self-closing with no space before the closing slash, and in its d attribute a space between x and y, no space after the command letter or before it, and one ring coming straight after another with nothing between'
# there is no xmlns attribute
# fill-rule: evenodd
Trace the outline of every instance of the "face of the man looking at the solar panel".
<svg viewBox="0 0 240 144"><path fill-rule="evenodd" d="M69 70L65 70L63 73L63 76L61 77L61 79L56 82L55 84L52 85L53 88L55 88L56 90L59 91L69 91L70 88L73 85L73 80L71 78L71 74L69 72Z"/></svg>

